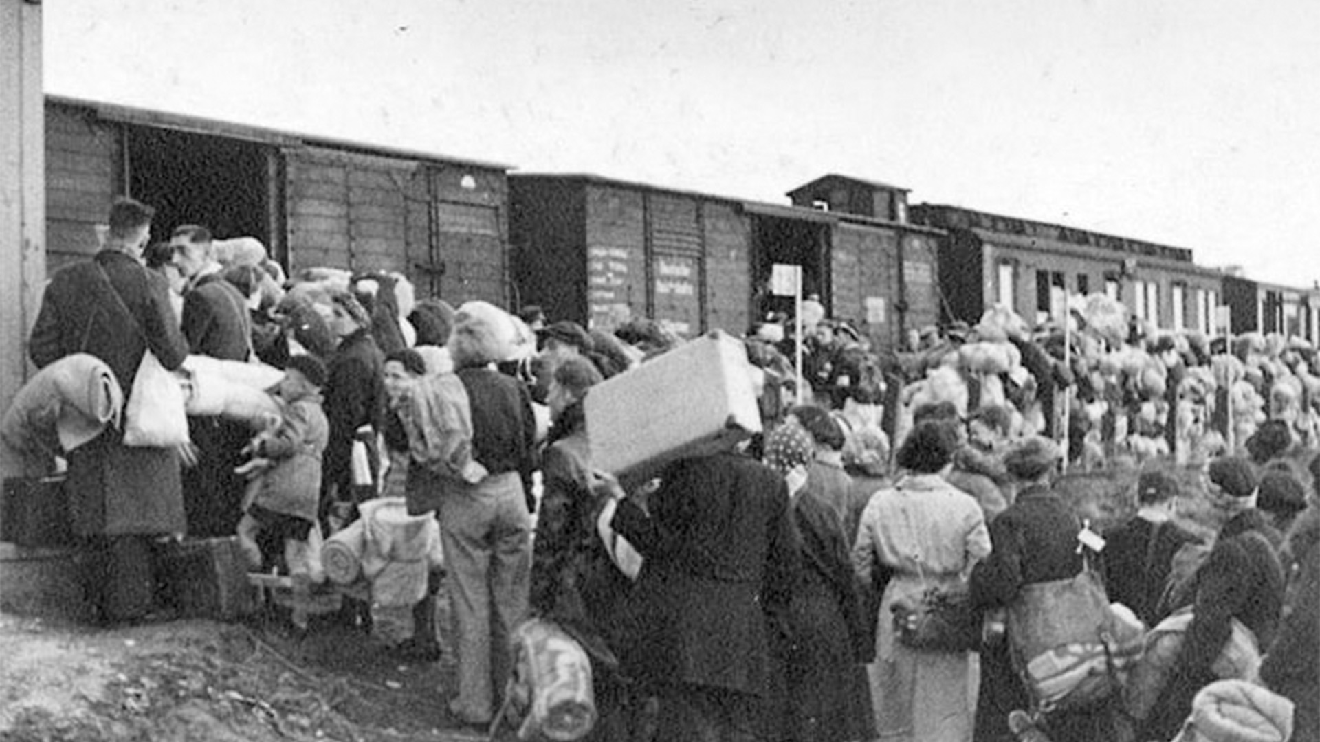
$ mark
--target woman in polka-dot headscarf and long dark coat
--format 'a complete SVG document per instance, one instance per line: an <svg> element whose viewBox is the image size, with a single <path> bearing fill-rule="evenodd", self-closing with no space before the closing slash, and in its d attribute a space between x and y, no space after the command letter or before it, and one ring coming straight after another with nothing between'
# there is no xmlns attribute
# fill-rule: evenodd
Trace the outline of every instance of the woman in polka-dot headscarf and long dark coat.
<svg viewBox="0 0 1320 742"><path fill-rule="evenodd" d="M814 412L820 415L814 415ZM822 442L803 425L807 420ZM870 739L875 735L866 673L857 660L866 640L857 580L849 557L842 481L817 475L821 449L836 450L842 433L820 408L796 408L766 441L767 463L789 481L791 514L797 531L801 570L789 602L785 647L785 727L791 739ZM826 470L829 473L830 470Z"/></svg>

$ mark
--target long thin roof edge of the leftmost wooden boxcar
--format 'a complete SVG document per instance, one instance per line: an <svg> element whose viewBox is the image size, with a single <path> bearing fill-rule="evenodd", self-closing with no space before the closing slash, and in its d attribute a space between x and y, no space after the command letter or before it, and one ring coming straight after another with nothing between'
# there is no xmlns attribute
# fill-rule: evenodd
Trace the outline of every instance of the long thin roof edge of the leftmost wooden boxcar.
<svg viewBox="0 0 1320 742"><path fill-rule="evenodd" d="M482 168L488 170L512 169L512 165L504 165L499 162L486 162L466 157L453 157L437 152L401 149L401 148L385 147L364 141L350 141L343 139L335 139L330 136L271 129L251 124L220 121L215 119L202 119L198 116L189 116L186 114L153 111L149 108L136 108L132 106L120 106L116 103L104 103L99 100L84 100L78 98L48 95L46 102L57 106L87 108L95 112L98 118L106 119L108 121L120 121L125 124L139 124L144 127L157 127L157 128L227 137L227 139L239 139L244 141L271 144L275 147L306 147L306 145L327 147L333 149L343 149L343 151L360 152L368 154L381 154L385 157L470 165L474 168Z"/></svg>

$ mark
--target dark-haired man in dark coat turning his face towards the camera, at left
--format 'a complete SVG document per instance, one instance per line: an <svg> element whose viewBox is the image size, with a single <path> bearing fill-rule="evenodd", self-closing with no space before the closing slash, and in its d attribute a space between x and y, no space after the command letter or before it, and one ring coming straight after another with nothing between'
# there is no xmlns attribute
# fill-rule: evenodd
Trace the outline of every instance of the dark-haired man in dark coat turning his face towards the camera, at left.
<svg viewBox="0 0 1320 742"><path fill-rule="evenodd" d="M211 232L183 224L170 236L174 265L183 288L183 337L191 353L222 360L247 360L252 351L252 318L247 298L224 280L215 260ZM189 417L195 461L183 470L183 504L193 536L230 536L243 516L243 478L234 469L251 437L247 425L219 416Z"/></svg>

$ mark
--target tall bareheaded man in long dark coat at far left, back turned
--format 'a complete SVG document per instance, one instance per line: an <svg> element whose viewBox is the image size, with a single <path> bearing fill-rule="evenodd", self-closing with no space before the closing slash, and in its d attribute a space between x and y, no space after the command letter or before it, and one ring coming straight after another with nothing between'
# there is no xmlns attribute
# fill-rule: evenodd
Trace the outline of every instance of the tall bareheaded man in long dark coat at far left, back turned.
<svg viewBox="0 0 1320 742"><path fill-rule="evenodd" d="M48 366L88 353L114 370L127 399L147 350L166 368L183 362L187 343L174 320L169 285L139 263L153 213L132 199L116 201L104 248L54 275L32 329L33 363ZM98 618L144 617L154 585L150 539L185 528L178 454L125 446L120 430L107 428L69 452L66 487L74 532L91 549L84 580Z"/></svg>

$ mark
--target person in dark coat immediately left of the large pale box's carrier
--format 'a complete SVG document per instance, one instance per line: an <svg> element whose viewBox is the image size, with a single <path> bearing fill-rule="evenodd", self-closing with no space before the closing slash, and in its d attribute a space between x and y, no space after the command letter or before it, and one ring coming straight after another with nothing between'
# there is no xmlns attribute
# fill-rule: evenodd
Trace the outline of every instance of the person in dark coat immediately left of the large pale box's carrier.
<svg viewBox="0 0 1320 742"><path fill-rule="evenodd" d="M624 685L619 676L619 610L632 582L610 560L597 533L606 503L591 491L590 448L582 400L601 372L586 358L569 358L550 378L549 446L541 463L544 494L532 551L532 610L558 623L591 655L601 714L587 739L628 739Z"/></svg>

